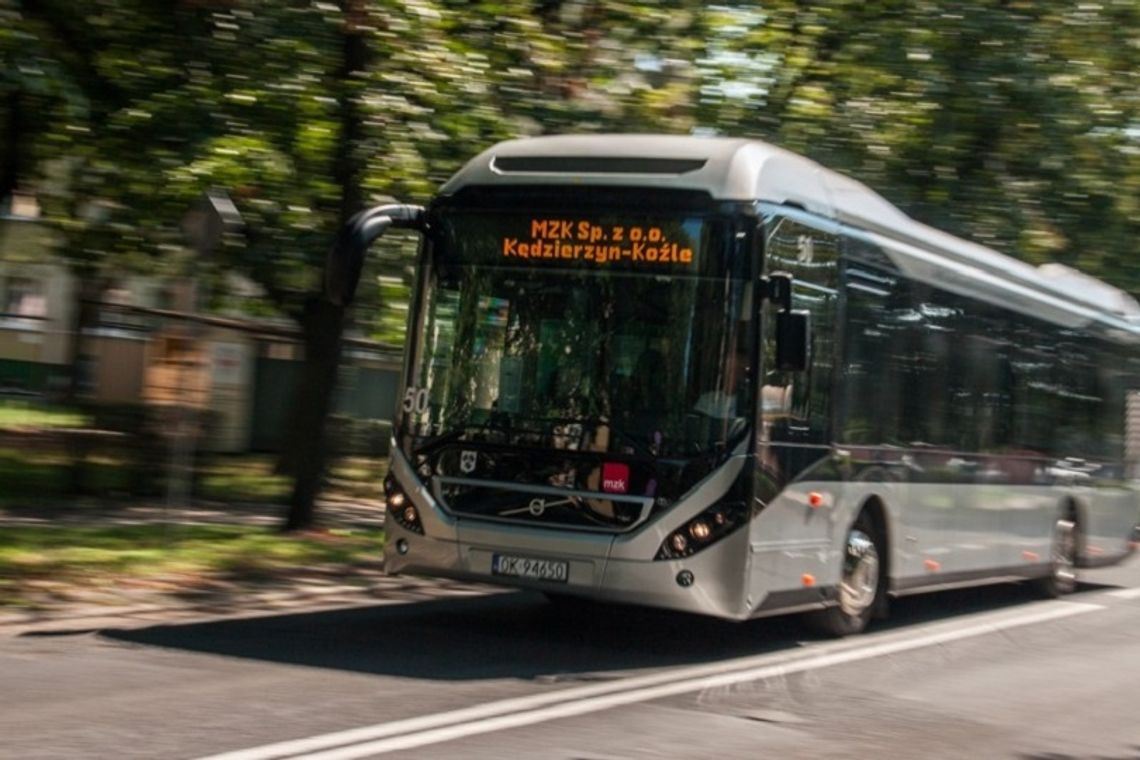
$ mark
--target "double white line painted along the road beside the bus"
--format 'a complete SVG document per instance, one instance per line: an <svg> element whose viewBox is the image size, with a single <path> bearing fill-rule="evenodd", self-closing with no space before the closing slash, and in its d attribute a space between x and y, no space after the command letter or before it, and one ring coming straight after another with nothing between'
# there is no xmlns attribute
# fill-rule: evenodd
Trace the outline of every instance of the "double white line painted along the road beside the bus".
<svg viewBox="0 0 1140 760"><path fill-rule="evenodd" d="M845 639L795 652L739 657L626 678L605 684L560 689L491 702L386 724L376 724L308 738L276 742L225 752L201 760L353 760L386 752L450 742L466 736L583 716L613 706L648 702L706 688L830 668L833 665L910 652L996 631L1060 620L1104 610L1102 605L1044 602L1016 615L982 613L952 623L935 623L905 631ZM962 624L966 623L966 624ZM915 636L914 634L920 634Z"/></svg>

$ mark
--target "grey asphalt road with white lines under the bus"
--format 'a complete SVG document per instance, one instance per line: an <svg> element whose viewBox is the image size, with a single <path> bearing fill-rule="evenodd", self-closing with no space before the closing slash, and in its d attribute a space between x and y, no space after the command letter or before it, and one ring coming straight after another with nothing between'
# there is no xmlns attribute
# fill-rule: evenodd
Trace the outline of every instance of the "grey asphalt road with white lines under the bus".
<svg viewBox="0 0 1140 760"><path fill-rule="evenodd" d="M1140 758L1140 562L793 620L520 593L0 636L3 758Z"/></svg>

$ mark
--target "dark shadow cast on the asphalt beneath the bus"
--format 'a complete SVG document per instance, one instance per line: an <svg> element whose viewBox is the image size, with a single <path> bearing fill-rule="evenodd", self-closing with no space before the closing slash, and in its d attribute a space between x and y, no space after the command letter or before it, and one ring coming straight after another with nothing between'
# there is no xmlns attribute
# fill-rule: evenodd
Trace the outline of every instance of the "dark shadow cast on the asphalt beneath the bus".
<svg viewBox="0 0 1140 760"><path fill-rule="evenodd" d="M1092 590L1096 587L1084 587ZM1080 594L1072 598L1078 598ZM877 630L1026 604L1004 585L895 600ZM136 645L417 679L575 680L801 646L796 618L734 623L636 607L552 605L530 593L107 630Z"/></svg>

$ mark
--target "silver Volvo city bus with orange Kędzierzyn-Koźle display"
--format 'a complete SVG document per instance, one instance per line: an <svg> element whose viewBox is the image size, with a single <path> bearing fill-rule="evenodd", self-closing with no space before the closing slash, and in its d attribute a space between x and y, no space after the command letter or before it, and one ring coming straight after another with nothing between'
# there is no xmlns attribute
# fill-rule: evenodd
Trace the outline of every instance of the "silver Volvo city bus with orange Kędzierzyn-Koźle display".
<svg viewBox="0 0 1140 760"><path fill-rule="evenodd" d="M503 142L425 207L385 565L861 631L890 597L1057 596L1138 538L1140 307L747 139Z"/></svg>

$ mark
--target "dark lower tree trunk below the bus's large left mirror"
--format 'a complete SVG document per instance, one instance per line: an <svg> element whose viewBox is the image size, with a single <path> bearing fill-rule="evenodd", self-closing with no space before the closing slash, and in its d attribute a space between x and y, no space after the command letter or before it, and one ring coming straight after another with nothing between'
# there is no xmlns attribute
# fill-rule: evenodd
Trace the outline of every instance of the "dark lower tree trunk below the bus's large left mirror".
<svg viewBox="0 0 1140 760"><path fill-rule="evenodd" d="M344 333L344 310L310 296L301 317L304 365L294 394L293 424L286 446L293 463L293 493L284 530L316 524L316 499L328 464L328 414L333 408Z"/></svg>

